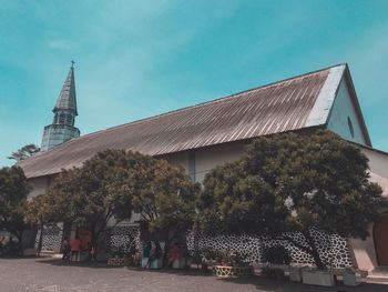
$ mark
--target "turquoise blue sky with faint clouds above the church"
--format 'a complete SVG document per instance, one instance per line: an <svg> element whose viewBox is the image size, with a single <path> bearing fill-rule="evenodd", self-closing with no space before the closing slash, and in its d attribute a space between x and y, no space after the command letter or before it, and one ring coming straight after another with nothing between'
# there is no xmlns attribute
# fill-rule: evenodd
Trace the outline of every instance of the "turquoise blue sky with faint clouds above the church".
<svg viewBox="0 0 388 292"><path fill-rule="evenodd" d="M388 151L386 0L0 0L0 167L40 145L71 60L83 134L348 62Z"/></svg>

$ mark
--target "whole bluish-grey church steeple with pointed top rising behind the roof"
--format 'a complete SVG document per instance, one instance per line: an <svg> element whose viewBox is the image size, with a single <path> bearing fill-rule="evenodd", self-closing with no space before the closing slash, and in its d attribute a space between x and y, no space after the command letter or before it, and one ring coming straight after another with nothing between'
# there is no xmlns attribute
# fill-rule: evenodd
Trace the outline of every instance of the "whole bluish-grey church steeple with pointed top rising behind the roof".
<svg viewBox="0 0 388 292"><path fill-rule="evenodd" d="M49 150L72 138L80 137L80 130L74 128L75 117L78 115L74 61L71 61L70 71L52 111L54 113L54 119L52 124L44 127L41 145L42 151Z"/></svg>

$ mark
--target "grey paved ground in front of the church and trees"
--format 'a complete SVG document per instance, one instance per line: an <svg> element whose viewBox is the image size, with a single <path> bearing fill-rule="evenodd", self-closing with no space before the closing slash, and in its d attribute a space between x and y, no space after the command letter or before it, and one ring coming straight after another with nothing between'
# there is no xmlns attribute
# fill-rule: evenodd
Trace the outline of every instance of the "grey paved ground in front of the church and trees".
<svg viewBox="0 0 388 292"><path fill-rule="evenodd" d="M222 280L186 272L147 271L131 268L108 268L104 264L63 264L52 259L0 259L0 291L388 291L387 284L366 283L358 288L317 288L270 281L259 276Z"/></svg>

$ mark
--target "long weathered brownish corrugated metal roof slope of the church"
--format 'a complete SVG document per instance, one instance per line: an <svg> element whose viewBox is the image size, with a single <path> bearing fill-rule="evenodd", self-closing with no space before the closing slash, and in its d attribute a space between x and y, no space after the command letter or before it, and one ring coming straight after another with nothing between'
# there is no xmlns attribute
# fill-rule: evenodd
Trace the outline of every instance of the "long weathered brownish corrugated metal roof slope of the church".
<svg viewBox="0 0 388 292"><path fill-rule="evenodd" d="M338 67L345 66L72 139L22 161L20 165L28 178L33 178L80 167L105 149L160 155L298 130L306 127L330 70Z"/></svg>

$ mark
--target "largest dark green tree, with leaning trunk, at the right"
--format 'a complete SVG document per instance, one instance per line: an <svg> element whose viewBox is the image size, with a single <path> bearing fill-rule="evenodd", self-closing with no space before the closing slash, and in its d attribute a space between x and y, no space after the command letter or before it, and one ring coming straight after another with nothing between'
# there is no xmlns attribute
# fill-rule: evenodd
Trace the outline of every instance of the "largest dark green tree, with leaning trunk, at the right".
<svg viewBox="0 0 388 292"><path fill-rule="evenodd" d="M365 239L368 224L388 210L368 179L367 158L331 132L262 137L239 161L206 175L198 225L286 240L325 269L314 229ZM287 232L303 234L305 244Z"/></svg>

